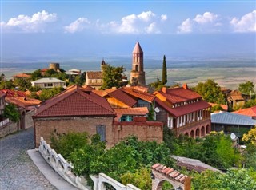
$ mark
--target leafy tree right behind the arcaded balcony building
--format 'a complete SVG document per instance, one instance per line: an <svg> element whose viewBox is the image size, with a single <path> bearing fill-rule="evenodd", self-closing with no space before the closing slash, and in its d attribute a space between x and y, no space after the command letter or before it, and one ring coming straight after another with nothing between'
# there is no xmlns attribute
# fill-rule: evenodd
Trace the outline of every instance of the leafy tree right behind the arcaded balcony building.
<svg viewBox="0 0 256 190"><path fill-rule="evenodd" d="M194 90L202 96L202 99L211 103L225 104L226 100L218 83L211 79L206 82L199 82Z"/></svg>

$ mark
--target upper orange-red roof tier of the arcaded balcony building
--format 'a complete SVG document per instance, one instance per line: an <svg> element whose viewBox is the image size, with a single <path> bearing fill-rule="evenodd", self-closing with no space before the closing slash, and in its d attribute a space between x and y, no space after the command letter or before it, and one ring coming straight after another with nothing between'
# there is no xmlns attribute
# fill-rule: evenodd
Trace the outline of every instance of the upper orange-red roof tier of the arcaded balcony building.
<svg viewBox="0 0 256 190"><path fill-rule="evenodd" d="M184 89L182 87L166 89L166 93L157 91L154 94L156 95L157 93L161 94L163 97L166 97L167 101L170 101L172 104L201 98L198 93L195 93L191 89Z"/></svg>

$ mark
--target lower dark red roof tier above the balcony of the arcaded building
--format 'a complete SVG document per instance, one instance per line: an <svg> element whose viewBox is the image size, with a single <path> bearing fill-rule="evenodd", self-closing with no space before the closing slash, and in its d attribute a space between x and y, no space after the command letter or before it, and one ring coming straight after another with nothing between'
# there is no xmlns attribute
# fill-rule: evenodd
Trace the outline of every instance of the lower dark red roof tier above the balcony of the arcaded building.
<svg viewBox="0 0 256 190"><path fill-rule="evenodd" d="M166 102L161 101L158 97L155 99L155 101L158 103L158 105L162 106L163 109L166 109L166 111L174 117L180 117L182 115L193 113L201 109L210 108L210 105L203 100L196 101L187 105L182 105L176 108L170 108L170 106L168 106Z"/></svg>

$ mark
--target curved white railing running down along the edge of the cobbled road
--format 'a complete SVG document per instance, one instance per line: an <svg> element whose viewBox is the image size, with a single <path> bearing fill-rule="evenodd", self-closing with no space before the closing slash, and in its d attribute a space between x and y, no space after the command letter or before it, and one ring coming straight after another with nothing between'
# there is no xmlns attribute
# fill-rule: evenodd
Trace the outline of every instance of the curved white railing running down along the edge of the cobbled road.
<svg viewBox="0 0 256 190"><path fill-rule="evenodd" d="M48 164L58 172L60 176L74 187L82 190L89 190L86 188L86 181L82 180L81 177L76 176L72 172L73 165L68 163L61 154L57 154L54 149L50 148L50 145L46 143L41 137L39 152ZM82 183L83 181L83 183Z"/></svg>

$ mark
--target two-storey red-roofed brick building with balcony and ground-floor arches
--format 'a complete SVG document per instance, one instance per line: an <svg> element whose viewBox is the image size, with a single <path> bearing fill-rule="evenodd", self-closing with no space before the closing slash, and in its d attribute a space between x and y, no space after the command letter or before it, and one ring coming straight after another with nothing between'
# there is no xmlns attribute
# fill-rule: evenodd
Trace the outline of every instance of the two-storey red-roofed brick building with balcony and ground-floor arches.
<svg viewBox="0 0 256 190"><path fill-rule="evenodd" d="M155 115L174 133L189 137L204 137L210 133L210 105L202 97L183 87L154 92Z"/></svg>

